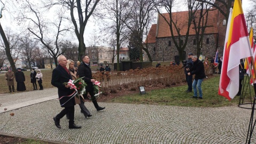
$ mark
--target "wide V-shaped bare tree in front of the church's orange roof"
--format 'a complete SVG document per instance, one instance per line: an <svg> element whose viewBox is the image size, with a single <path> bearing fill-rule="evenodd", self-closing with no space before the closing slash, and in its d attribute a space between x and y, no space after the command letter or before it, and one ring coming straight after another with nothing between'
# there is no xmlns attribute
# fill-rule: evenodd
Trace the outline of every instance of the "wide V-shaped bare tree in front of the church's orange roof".
<svg viewBox="0 0 256 144"><path fill-rule="evenodd" d="M198 7L200 6L198 2L196 2L196 0L192 0L192 1L187 0L186 2L188 7L188 13L187 13L186 19L188 21L179 21L179 22L178 20L180 19L179 17L181 15L178 15L177 13L175 14L172 13L173 6L175 5L175 0L163 0L163 1L161 0L161 1L158 1L158 4L157 4L157 6L164 7L164 9L167 11L167 14L163 14L161 13L161 10L159 9L159 7L157 7L159 17L162 17L170 28L172 41L179 52L179 58L181 60L183 59L182 55L184 53L184 50L188 42L190 26L194 19L194 15L197 12ZM182 39L181 29L186 29L185 42L183 42L183 39ZM174 34L177 34L177 36L175 36Z"/></svg>

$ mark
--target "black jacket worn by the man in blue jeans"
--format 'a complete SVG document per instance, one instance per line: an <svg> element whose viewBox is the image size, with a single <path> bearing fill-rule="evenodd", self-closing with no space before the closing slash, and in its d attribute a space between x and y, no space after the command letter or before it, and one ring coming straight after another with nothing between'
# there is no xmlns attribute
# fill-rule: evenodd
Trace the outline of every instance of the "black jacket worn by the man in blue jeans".
<svg viewBox="0 0 256 144"><path fill-rule="evenodd" d="M189 71L191 75L195 75L196 80L205 78L204 63L199 59L194 61L193 67Z"/></svg>

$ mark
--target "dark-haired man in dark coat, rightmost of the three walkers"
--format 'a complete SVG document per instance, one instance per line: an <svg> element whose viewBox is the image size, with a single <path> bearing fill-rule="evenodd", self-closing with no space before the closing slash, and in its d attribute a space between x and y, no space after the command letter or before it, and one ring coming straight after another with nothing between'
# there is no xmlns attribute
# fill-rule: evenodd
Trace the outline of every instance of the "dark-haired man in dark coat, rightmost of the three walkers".
<svg viewBox="0 0 256 144"><path fill-rule="evenodd" d="M84 82L86 82L87 86L85 88L86 93L84 94L84 98L87 97L87 94L89 93L91 97L94 97L94 90L93 90L93 84L95 82L95 79L92 78L92 70L89 67L90 59L87 55L82 56L82 63L78 67L79 71L79 77L84 77ZM107 66L106 66L107 67ZM94 107L97 109L97 111L105 109L105 107L100 107L98 105L97 100L92 100Z"/></svg>

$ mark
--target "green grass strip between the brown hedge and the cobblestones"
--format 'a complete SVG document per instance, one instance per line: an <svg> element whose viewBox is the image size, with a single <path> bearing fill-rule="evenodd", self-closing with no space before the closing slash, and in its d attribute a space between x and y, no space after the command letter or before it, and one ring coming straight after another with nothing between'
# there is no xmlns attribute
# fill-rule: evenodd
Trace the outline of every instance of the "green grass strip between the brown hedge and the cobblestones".
<svg viewBox="0 0 256 144"><path fill-rule="evenodd" d="M220 76L204 79L202 83L203 99L190 98L193 92L185 92L187 85L170 87L162 90L147 91L147 94L123 95L108 102L136 103L148 105L171 105L186 107L224 107L235 106L239 103L239 97L229 101L225 97L218 95ZM252 87L251 87L252 89ZM253 92L251 92L253 95ZM246 100L249 101L249 93L246 94Z"/></svg>

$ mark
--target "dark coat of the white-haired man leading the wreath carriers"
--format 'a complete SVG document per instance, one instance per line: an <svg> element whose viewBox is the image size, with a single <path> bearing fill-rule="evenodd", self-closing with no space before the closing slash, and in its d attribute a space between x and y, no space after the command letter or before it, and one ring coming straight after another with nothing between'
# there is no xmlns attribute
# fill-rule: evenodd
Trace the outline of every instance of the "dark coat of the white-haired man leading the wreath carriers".
<svg viewBox="0 0 256 144"><path fill-rule="evenodd" d="M70 95L74 92L74 90L65 87L64 83L67 83L69 79L72 79L71 75L68 74L68 72L62 66L58 65L55 69L53 69L51 84L55 87L58 87L59 98L61 98L62 96ZM69 99L70 97L61 98L60 105L66 102L65 105L62 105L61 107L72 107L76 105L75 97L70 100Z"/></svg>

